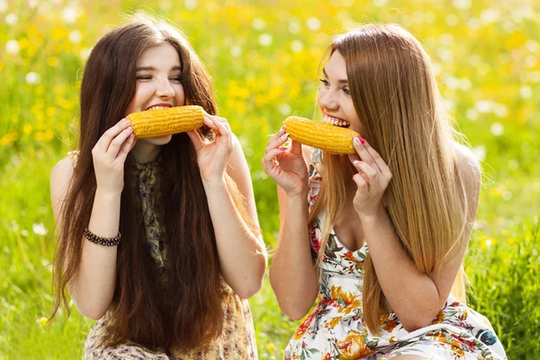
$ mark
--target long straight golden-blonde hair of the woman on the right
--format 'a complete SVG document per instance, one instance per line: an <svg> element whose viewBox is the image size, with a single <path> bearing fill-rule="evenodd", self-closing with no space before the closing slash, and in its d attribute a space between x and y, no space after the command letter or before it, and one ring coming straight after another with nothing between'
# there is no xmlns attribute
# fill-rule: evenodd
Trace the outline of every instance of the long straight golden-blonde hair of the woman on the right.
<svg viewBox="0 0 540 360"><path fill-rule="evenodd" d="M454 142L463 137L442 107L428 54L408 31L392 24L348 31L329 45L327 57L334 51L346 61L361 135L392 171L383 203L401 245L420 272L437 273L464 247L467 204L454 151ZM328 153L322 169L324 180L308 223L326 209L324 249L355 169L346 156ZM379 317L391 309L369 254L364 272L365 322L379 334ZM464 294L461 270L453 293Z"/></svg>

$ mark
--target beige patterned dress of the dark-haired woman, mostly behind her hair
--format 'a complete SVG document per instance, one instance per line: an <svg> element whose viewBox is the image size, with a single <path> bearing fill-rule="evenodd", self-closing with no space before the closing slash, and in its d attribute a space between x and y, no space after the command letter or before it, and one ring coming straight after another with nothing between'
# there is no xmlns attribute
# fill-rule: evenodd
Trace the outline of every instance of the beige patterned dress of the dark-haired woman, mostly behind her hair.
<svg viewBox="0 0 540 360"><path fill-rule="evenodd" d="M69 156L76 165L78 153L72 151ZM148 250L162 267L166 264L166 239L163 236L164 229L157 221L155 211L155 193L157 191L157 165L159 160L147 164L135 164L134 176L139 184L140 204L144 213L144 223L148 239ZM210 347L193 349L189 352L173 352L173 356L167 356L165 351L152 352L147 348L136 344L124 344L118 347L100 347L100 340L104 336L104 328L109 318L105 314L101 320L97 320L94 328L88 334L85 341L84 360L97 359L129 359L129 360L237 360L257 359L257 346L255 342L255 330L249 311L247 300L242 300L237 293L229 287L221 278L223 310L223 331Z"/></svg>

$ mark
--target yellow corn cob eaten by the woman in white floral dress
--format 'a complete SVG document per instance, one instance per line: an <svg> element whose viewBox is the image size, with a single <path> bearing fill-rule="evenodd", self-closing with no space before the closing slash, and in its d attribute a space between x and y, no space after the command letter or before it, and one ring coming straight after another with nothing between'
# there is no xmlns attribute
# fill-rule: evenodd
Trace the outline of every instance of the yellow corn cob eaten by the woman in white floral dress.
<svg viewBox="0 0 540 360"><path fill-rule="evenodd" d="M294 141L338 154L356 153L353 138L360 134L354 130L297 116L289 116L284 124L285 130Z"/></svg>

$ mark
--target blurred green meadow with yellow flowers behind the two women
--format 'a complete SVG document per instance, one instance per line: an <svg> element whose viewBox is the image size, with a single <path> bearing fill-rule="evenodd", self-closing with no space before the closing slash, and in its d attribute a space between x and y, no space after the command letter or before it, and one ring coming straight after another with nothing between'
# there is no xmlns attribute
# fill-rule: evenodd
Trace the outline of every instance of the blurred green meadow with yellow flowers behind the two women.
<svg viewBox="0 0 540 360"><path fill-rule="evenodd" d="M421 0L0 0L0 359L75 359L93 321L49 326L54 221L49 171L76 148L85 58L121 13L164 15L214 78L220 115L251 166L266 244L278 230L275 185L260 159L289 114L310 117L329 37L400 23L433 58L450 112L482 159L484 186L466 259L471 302L509 359L540 358L540 9L537 2ZM250 300L259 356L281 358L297 325L270 285Z"/></svg>

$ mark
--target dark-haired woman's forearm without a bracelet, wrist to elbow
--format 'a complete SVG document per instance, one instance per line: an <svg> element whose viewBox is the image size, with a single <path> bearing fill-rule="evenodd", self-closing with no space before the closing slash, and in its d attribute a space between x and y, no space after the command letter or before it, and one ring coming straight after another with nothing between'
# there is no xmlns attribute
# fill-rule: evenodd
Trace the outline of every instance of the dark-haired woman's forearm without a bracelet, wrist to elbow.
<svg viewBox="0 0 540 360"><path fill-rule="evenodd" d="M239 214L225 180L204 183L221 275L243 299L257 293L266 272L266 247Z"/></svg>

